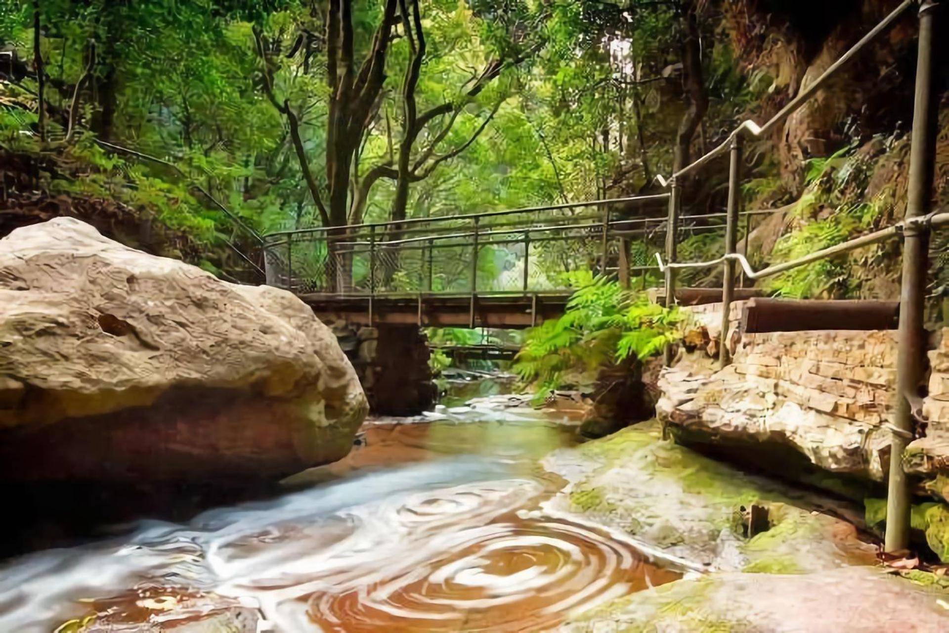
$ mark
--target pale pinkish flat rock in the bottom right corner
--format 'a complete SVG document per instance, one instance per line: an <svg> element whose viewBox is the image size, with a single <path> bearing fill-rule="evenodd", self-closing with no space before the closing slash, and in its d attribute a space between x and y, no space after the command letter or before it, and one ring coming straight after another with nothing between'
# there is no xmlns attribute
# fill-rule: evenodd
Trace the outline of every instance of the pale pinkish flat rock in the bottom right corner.
<svg viewBox="0 0 949 633"><path fill-rule="evenodd" d="M936 633L949 625L946 594L873 568L802 575L729 572L642 591L559 630L565 633Z"/></svg>

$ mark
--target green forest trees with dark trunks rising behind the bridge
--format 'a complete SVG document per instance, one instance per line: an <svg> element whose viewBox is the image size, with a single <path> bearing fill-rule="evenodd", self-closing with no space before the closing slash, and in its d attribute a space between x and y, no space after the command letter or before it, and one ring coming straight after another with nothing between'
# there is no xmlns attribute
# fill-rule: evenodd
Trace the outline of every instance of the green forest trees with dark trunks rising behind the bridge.
<svg viewBox="0 0 949 633"><path fill-rule="evenodd" d="M628 195L743 87L701 28L690 0L0 0L0 143L207 240L220 207L268 233Z"/></svg>

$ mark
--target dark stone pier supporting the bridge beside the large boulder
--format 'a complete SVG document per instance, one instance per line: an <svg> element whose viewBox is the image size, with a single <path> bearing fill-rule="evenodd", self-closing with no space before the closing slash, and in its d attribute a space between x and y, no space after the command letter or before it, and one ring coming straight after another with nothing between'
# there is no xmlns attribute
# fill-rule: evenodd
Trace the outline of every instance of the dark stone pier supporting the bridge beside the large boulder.
<svg viewBox="0 0 949 633"><path fill-rule="evenodd" d="M336 334L363 384L369 408L380 416L417 416L431 410L437 387L429 349L415 324L366 324L318 315Z"/></svg>

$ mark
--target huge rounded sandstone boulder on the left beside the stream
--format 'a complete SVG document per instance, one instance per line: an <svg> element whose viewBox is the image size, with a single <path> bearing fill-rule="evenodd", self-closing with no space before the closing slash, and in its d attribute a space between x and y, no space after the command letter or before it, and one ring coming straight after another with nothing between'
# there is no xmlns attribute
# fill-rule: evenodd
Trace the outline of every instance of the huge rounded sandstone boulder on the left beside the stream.
<svg viewBox="0 0 949 633"><path fill-rule="evenodd" d="M292 294L134 251L72 218L0 240L0 476L285 475L367 411Z"/></svg>

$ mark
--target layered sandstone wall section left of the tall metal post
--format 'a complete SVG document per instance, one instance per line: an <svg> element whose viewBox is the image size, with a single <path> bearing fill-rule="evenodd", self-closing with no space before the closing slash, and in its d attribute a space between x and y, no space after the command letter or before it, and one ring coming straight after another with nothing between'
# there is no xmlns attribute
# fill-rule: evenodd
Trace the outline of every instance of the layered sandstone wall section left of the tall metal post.
<svg viewBox="0 0 949 633"><path fill-rule="evenodd" d="M684 353L662 374L660 419L694 438L781 445L828 471L883 478L891 332L743 334L734 355L716 371L704 351Z"/></svg>

